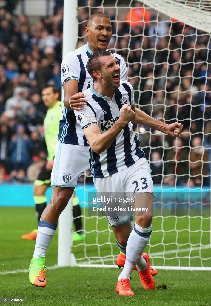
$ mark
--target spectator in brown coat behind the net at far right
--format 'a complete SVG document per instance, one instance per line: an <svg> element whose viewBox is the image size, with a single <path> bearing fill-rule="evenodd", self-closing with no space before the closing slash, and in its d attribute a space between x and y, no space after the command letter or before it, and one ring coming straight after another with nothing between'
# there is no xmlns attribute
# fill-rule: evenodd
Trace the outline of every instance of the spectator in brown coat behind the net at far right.
<svg viewBox="0 0 211 306"><path fill-rule="evenodd" d="M208 161L207 150L202 146L202 140L196 136L192 140L192 148L190 154L191 176L195 181L195 185L201 185L202 176L206 175L206 163Z"/></svg>

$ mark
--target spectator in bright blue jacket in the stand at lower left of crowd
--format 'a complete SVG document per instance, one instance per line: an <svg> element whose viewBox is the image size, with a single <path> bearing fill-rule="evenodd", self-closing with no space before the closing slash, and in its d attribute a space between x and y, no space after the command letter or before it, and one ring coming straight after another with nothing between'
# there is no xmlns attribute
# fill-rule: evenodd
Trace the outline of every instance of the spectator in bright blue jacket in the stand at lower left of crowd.
<svg viewBox="0 0 211 306"><path fill-rule="evenodd" d="M12 135L9 143L10 162L13 170L27 170L31 157L31 138L25 134L23 124L18 124L16 133Z"/></svg>

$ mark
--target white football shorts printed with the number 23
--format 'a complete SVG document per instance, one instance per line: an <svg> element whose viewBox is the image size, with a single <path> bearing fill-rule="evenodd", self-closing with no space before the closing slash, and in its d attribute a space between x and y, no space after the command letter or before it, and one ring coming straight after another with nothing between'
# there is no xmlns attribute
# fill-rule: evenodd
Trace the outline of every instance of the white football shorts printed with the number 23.
<svg viewBox="0 0 211 306"><path fill-rule="evenodd" d="M111 198L109 206L112 207L112 214L109 215L109 212L106 212L108 223L111 226L117 226L127 222L132 215L132 212L116 212L114 207L117 207L117 204L112 199L116 199L116 197L120 198L120 196L123 196L123 199L131 199L137 194L144 192L149 192L154 195L151 172L146 158L140 158L132 166L120 170L117 173L107 177L94 178L94 185L97 189L98 197L106 196ZM108 205L102 201L101 203L103 207ZM118 203L118 206L128 207L128 203L122 201Z"/></svg>

